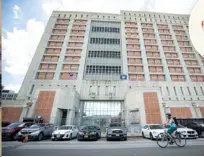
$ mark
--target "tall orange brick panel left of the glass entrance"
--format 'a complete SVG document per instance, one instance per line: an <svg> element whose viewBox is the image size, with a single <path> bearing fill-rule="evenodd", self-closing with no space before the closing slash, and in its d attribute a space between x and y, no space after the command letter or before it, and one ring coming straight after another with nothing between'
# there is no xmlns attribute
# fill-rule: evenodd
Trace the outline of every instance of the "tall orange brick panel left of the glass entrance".
<svg viewBox="0 0 204 157"><path fill-rule="evenodd" d="M38 96L34 115L42 116L45 122L49 122L54 98L55 91L41 91Z"/></svg>

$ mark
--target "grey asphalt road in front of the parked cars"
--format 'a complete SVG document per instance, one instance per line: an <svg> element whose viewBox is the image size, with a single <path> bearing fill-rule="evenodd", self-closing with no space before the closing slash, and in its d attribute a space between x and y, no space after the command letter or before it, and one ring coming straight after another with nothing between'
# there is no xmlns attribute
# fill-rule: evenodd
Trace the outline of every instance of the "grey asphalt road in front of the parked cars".
<svg viewBox="0 0 204 157"><path fill-rule="evenodd" d="M3 142L3 156L203 156L204 139L188 140L187 145L160 148L156 141L130 139L128 141L41 141Z"/></svg>

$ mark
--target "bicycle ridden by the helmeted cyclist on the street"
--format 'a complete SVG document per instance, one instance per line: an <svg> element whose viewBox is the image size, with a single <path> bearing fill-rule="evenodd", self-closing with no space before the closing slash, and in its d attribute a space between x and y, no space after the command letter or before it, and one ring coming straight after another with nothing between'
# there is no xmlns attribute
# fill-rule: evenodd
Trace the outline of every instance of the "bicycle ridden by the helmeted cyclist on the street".
<svg viewBox="0 0 204 157"><path fill-rule="evenodd" d="M186 138L178 131L173 133L174 136L171 136L169 133L167 133L167 130L164 131L164 133L160 133L157 136L157 144L161 148L166 148L168 144L174 144L178 147L184 147L186 145Z"/></svg>

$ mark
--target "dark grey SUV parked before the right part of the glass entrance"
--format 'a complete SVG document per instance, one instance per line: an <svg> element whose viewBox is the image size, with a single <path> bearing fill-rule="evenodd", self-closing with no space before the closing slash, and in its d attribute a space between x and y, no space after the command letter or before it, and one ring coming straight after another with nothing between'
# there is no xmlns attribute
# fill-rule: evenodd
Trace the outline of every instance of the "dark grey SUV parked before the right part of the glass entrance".
<svg viewBox="0 0 204 157"><path fill-rule="evenodd" d="M127 128L122 123L111 123L107 128L106 140L123 139L127 140Z"/></svg>

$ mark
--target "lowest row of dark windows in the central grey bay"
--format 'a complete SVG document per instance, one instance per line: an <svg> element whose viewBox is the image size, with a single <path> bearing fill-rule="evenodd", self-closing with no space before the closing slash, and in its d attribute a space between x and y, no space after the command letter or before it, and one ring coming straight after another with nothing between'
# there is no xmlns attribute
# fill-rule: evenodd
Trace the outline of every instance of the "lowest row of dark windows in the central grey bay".
<svg viewBox="0 0 204 157"><path fill-rule="evenodd" d="M87 66L86 74L121 74L120 66Z"/></svg>

